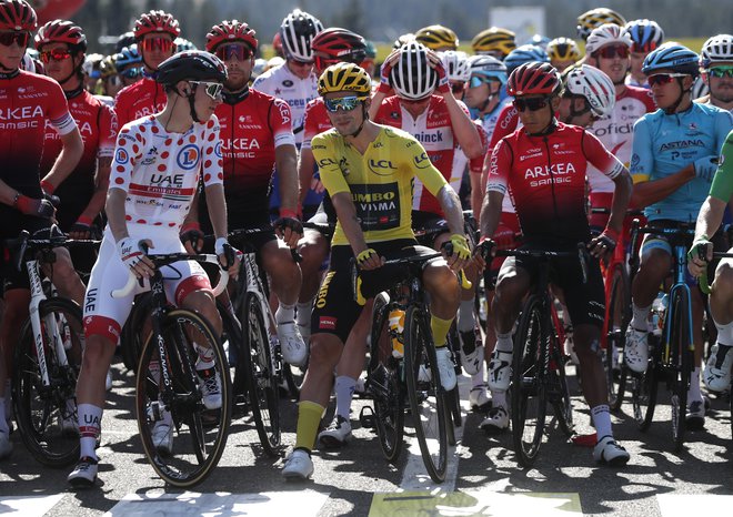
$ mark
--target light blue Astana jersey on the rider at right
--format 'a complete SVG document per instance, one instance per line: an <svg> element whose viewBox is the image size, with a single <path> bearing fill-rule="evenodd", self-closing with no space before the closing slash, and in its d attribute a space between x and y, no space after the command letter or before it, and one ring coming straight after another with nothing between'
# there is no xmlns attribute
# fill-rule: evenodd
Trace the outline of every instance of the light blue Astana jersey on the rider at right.
<svg viewBox="0 0 733 517"><path fill-rule="evenodd" d="M683 113L646 113L634 124L630 171L635 183L666 178L700 158L717 156L733 128L730 112L696 104ZM695 178L664 200L649 205L650 221L694 222L710 192L710 182Z"/></svg>

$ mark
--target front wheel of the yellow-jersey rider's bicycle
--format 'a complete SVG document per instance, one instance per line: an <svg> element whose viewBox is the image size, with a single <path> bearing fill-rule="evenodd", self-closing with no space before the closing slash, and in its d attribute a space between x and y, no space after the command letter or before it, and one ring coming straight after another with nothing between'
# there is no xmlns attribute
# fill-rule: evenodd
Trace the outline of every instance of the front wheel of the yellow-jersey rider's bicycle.
<svg viewBox="0 0 733 517"><path fill-rule="evenodd" d="M449 415L440 384L435 347L425 312L408 307L404 317L404 367L408 398L422 460L435 483L445 480Z"/></svg>

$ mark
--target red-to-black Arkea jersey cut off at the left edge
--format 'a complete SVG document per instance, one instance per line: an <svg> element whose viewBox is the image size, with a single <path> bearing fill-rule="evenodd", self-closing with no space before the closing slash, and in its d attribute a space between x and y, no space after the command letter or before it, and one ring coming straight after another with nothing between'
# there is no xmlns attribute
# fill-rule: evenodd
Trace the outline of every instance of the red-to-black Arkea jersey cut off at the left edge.
<svg viewBox="0 0 733 517"><path fill-rule="evenodd" d="M62 135L77 128L59 83L22 70L0 74L0 180L30 197L41 196L47 121Z"/></svg>

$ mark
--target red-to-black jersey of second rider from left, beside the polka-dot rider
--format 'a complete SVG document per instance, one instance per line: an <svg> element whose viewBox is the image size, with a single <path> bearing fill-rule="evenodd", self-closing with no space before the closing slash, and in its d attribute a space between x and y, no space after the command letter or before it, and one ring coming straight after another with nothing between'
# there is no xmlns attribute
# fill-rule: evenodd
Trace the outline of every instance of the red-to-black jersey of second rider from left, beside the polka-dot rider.
<svg viewBox="0 0 733 517"><path fill-rule="evenodd" d="M104 102L86 90L67 99L71 116L77 122L84 151L71 174L57 187L54 194L61 200L57 219L61 230L73 224L84 211L94 193L97 159L111 158L118 126L114 112ZM41 178L53 166L61 153L61 139L52 125L47 123L41 161Z"/></svg>

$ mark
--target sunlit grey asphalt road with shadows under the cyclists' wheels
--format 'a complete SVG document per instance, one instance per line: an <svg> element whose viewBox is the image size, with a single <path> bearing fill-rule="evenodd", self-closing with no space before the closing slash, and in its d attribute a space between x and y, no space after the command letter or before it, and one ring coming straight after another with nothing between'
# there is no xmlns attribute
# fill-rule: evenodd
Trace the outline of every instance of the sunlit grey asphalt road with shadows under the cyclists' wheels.
<svg viewBox="0 0 733 517"><path fill-rule="evenodd" d="M576 515L662 516L704 510L731 515L733 466L727 397L713 398L705 430L690 434L681 454L672 452L669 396L649 432L636 429L631 407L614 416L616 438L631 453L621 469L598 466L592 449L549 433L534 468L518 466L511 435L486 437L482 415L465 413L462 439L452 450L449 479L430 483L414 447L388 464L375 435L361 428L358 414L369 401L357 399L353 439L337 452L313 455L315 473L307 483L285 483L281 458L258 445L252 422L237 414L224 455L194 493L167 489L142 455L133 414L131 374L114 365L114 387L102 422L102 447L96 488L74 493L70 468L41 466L18 433L14 452L0 463L0 514L33 515ZM469 381L462 378L463 388ZM294 443L297 406L282 401L283 440ZM574 398L576 427L589 432L588 412ZM408 444L414 442L408 429ZM690 506L691 505L691 506Z"/></svg>

